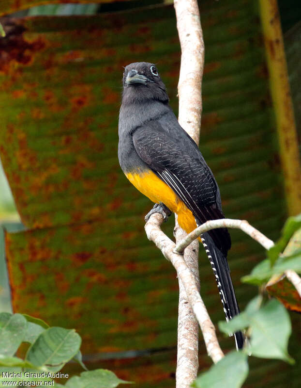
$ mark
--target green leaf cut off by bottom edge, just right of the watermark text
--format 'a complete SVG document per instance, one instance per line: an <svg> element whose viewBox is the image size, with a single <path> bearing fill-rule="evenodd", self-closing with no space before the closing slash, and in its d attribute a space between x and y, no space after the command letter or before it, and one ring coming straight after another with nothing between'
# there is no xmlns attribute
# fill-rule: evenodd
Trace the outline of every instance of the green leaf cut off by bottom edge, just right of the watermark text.
<svg viewBox="0 0 301 388"><path fill-rule="evenodd" d="M71 377L65 384L68 388L115 388L119 384L132 384L130 381L120 380L115 373L106 369L82 372L80 376Z"/></svg>

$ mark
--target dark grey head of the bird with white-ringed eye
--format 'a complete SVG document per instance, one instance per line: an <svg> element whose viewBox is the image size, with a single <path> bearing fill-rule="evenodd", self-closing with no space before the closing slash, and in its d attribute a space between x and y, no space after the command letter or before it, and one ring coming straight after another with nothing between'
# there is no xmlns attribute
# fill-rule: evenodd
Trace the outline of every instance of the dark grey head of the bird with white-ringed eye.
<svg viewBox="0 0 301 388"><path fill-rule="evenodd" d="M154 64L135 62L127 65L123 73L122 102L148 100L168 102L166 87Z"/></svg>

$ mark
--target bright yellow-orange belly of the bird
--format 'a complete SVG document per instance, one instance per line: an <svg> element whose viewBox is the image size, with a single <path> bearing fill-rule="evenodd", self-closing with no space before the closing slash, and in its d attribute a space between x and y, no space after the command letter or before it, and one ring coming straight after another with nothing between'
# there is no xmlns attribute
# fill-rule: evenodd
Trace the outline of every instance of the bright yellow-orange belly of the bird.
<svg viewBox="0 0 301 388"><path fill-rule="evenodd" d="M163 202L168 209L178 214L178 222L182 229L190 233L196 228L196 220L181 198L163 180L152 171L125 174L129 181L142 194L154 203Z"/></svg>

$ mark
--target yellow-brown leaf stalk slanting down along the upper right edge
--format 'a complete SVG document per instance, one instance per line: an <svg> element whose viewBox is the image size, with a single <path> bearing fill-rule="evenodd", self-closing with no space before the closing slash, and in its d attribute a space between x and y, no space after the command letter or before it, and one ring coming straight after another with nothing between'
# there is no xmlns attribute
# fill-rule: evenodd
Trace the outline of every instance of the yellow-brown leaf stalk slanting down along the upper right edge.
<svg viewBox="0 0 301 388"><path fill-rule="evenodd" d="M301 212L300 153L277 0L259 0L259 9L285 176L287 209L290 215L296 215Z"/></svg>

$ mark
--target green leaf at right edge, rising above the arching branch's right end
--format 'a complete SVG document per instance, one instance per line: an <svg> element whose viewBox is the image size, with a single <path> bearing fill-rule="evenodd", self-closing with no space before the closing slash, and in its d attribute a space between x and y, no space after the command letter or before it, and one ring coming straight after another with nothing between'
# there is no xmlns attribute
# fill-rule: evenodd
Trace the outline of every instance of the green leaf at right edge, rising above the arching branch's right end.
<svg viewBox="0 0 301 388"><path fill-rule="evenodd" d="M282 253L296 230L301 227L301 213L295 217L289 217L282 229L282 236L268 251L268 258L270 259L271 266L276 262L280 253Z"/></svg>

